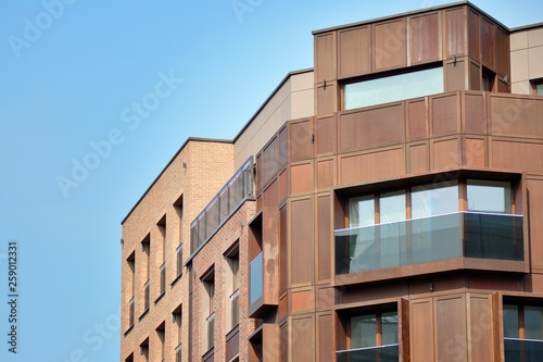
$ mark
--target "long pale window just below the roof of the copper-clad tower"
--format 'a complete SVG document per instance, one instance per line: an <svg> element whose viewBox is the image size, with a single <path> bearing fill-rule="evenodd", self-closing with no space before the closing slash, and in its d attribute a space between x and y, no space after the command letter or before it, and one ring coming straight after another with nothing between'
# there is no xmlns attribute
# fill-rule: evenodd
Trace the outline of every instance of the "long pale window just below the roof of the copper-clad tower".
<svg viewBox="0 0 543 362"><path fill-rule="evenodd" d="M443 67L415 71L343 86L343 109L368 107L443 92Z"/></svg>

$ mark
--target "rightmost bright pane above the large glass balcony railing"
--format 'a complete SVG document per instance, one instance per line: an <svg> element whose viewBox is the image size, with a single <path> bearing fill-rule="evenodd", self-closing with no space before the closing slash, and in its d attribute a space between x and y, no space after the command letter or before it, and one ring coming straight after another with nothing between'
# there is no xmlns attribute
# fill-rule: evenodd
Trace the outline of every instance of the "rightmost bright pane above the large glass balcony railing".
<svg viewBox="0 0 543 362"><path fill-rule="evenodd" d="M510 213L510 183L468 179L468 211Z"/></svg>

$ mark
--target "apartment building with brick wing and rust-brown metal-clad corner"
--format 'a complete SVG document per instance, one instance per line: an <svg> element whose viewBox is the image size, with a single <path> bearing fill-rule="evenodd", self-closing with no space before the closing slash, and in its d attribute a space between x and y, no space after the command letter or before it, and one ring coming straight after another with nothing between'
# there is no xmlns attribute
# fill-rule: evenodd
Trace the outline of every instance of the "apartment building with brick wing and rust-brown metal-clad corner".
<svg viewBox="0 0 543 362"><path fill-rule="evenodd" d="M543 24L316 30L123 221L121 361L539 361Z"/></svg>

